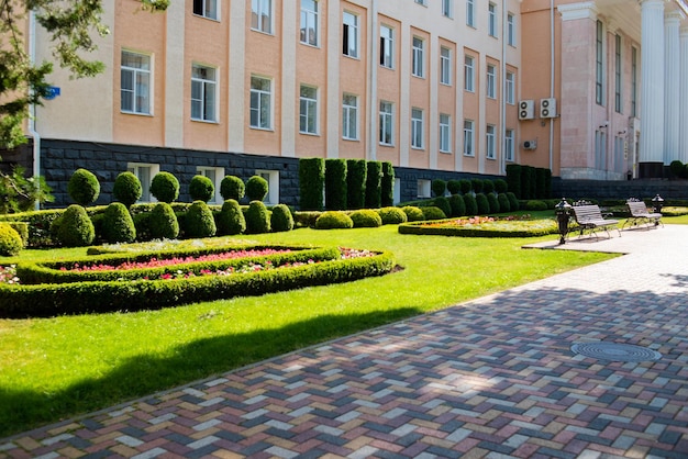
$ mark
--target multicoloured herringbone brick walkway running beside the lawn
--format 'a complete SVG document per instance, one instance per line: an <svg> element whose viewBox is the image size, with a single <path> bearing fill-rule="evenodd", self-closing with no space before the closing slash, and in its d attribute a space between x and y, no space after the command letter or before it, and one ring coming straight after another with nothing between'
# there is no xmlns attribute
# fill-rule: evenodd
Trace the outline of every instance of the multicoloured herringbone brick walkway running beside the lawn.
<svg viewBox="0 0 688 459"><path fill-rule="evenodd" d="M687 458L687 240L573 240L630 255L0 439L0 456ZM570 349L596 342L662 358Z"/></svg>

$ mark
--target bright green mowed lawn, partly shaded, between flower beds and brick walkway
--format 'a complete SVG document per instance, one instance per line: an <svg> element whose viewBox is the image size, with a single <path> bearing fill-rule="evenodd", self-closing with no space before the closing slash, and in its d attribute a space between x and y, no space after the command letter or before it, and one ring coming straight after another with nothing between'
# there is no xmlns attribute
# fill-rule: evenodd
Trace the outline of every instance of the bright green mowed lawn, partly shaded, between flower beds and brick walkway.
<svg viewBox="0 0 688 459"><path fill-rule="evenodd" d="M521 248L556 236L412 236L399 235L396 226L304 228L242 239L389 249L402 269L352 283L160 311L0 320L0 436L612 257ZM24 250L1 262L84 254L84 248Z"/></svg>

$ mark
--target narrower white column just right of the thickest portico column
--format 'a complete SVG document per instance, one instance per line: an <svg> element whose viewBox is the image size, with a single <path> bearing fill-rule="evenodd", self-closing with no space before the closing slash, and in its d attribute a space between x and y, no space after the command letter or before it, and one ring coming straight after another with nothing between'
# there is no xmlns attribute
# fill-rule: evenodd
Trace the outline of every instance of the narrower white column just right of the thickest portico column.
<svg viewBox="0 0 688 459"><path fill-rule="evenodd" d="M681 13L669 12L664 16L664 164L678 158L680 49L678 29Z"/></svg>

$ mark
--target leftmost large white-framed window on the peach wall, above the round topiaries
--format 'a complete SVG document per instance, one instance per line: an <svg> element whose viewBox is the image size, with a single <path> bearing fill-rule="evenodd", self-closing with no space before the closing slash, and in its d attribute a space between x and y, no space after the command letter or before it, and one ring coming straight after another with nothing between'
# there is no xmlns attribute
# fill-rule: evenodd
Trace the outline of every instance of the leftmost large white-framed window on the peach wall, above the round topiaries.
<svg viewBox="0 0 688 459"><path fill-rule="evenodd" d="M122 52L121 110L151 114L151 56Z"/></svg>

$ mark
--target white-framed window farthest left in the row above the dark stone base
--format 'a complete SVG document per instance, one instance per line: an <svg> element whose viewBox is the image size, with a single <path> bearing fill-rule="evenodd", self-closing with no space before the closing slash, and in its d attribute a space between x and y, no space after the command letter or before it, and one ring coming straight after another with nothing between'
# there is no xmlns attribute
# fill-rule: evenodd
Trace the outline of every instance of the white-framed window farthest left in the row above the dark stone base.
<svg viewBox="0 0 688 459"><path fill-rule="evenodd" d="M124 64L124 55L131 55L136 63ZM147 54L135 53L122 49L120 64L120 110L122 113L152 114L151 94L153 94L152 59ZM133 88L124 88L124 75L131 79ZM124 108L124 100L127 100L130 110Z"/></svg>

